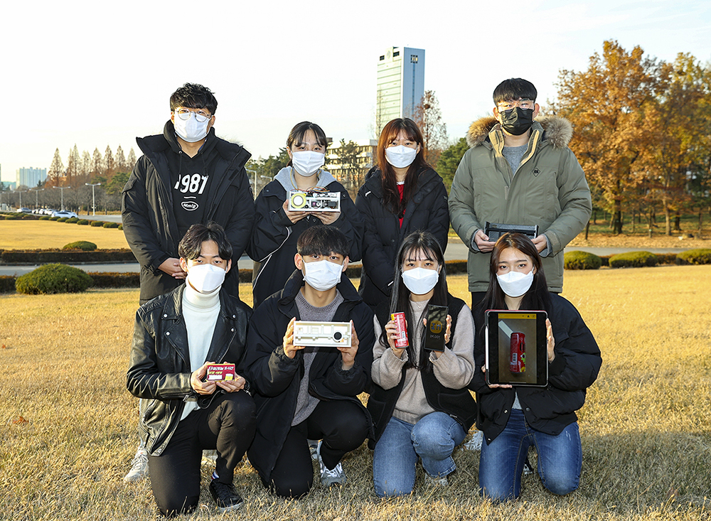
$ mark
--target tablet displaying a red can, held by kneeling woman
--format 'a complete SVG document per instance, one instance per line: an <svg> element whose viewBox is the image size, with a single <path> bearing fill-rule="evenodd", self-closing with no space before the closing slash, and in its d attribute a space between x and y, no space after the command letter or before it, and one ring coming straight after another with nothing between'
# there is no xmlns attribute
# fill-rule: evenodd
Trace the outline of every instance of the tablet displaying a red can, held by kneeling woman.
<svg viewBox="0 0 711 521"><path fill-rule="evenodd" d="M486 382L548 384L545 311L486 311Z"/></svg>

